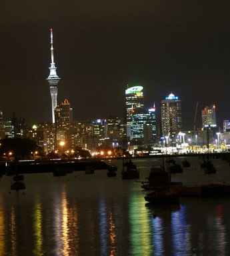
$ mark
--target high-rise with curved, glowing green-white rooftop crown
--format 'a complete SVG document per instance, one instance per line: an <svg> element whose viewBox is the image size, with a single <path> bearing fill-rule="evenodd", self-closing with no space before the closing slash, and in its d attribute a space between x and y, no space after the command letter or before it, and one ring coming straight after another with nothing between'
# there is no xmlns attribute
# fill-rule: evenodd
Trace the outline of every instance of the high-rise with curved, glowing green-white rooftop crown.
<svg viewBox="0 0 230 256"><path fill-rule="evenodd" d="M131 127L133 122L133 112L137 109L143 109L144 96L142 86L133 86L125 90L126 106L126 135L131 138Z"/></svg>

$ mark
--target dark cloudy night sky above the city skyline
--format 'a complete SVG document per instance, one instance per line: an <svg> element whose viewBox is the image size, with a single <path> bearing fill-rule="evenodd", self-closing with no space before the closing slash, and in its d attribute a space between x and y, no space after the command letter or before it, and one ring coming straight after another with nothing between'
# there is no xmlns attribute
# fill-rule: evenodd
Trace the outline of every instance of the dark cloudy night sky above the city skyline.
<svg viewBox="0 0 230 256"><path fill-rule="evenodd" d="M230 1L55 0L1 3L1 101L5 120L51 121L46 78L50 31L58 104L66 97L73 119L123 117L125 89L142 85L145 103L171 92L181 99L183 129L216 104L222 128L230 119Z"/></svg>

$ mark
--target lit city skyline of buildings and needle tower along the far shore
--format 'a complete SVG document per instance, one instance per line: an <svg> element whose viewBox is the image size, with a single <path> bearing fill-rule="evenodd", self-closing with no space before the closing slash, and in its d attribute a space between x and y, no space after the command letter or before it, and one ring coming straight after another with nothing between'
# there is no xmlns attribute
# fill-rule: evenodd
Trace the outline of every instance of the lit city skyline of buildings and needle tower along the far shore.
<svg viewBox="0 0 230 256"><path fill-rule="evenodd" d="M46 153L76 148L94 152L102 146L122 147L132 151L157 147L171 147L175 150L186 146L189 151L197 151L198 147L209 149L210 144L220 149L221 144L227 145L230 142L230 121L223 121L223 129L217 126L214 104L201 111L202 127L196 128L194 121L194 129L184 131L181 99L173 93L169 94L161 101L161 109L158 111L155 104L145 106L143 87L139 85L125 90L125 117L108 115L105 119L73 121L73 109L68 99L57 105L60 78L56 69L51 29L51 67L47 81L51 93L52 121L27 127L25 119L21 117L4 121L0 111L0 139L32 139Z"/></svg>

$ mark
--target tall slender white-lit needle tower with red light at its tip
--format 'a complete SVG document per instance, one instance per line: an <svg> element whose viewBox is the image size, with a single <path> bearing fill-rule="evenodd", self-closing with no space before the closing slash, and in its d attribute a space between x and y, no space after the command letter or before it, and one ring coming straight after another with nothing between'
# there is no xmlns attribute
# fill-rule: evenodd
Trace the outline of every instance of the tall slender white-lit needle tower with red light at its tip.
<svg viewBox="0 0 230 256"><path fill-rule="evenodd" d="M59 78L57 76L56 67L54 63L54 57L53 57L53 30L50 29L51 32L51 65L49 67L49 77L47 78L47 81L49 83L50 88L50 94L51 94L51 100L52 100L52 121L55 123L55 107L57 107L57 85L59 83Z"/></svg>

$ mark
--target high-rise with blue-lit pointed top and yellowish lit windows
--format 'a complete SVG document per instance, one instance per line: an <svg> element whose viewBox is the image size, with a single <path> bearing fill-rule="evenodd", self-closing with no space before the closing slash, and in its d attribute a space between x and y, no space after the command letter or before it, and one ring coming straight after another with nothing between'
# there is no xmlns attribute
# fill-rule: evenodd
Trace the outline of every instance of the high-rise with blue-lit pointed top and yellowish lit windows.
<svg viewBox="0 0 230 256"><path fill-rule="evenodd" d="M171 93L161 101L162 136L175 137L182 129L181 100Z"/></svg>

